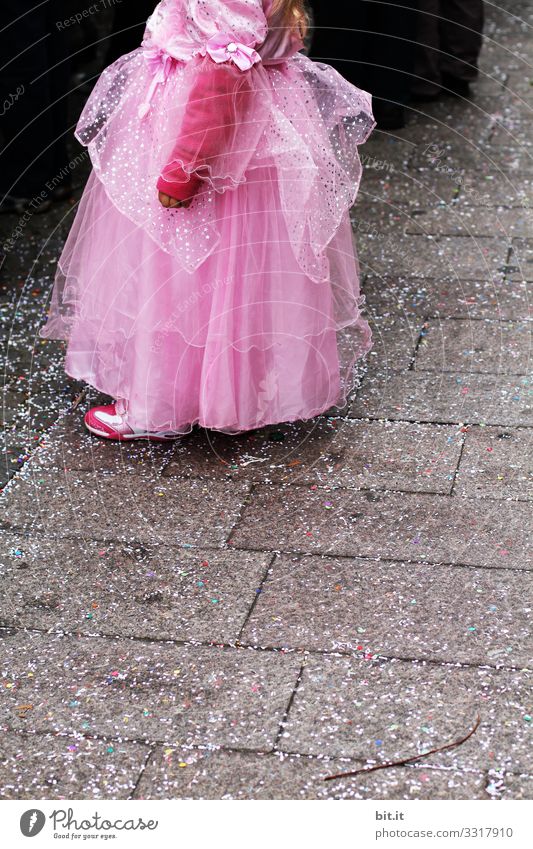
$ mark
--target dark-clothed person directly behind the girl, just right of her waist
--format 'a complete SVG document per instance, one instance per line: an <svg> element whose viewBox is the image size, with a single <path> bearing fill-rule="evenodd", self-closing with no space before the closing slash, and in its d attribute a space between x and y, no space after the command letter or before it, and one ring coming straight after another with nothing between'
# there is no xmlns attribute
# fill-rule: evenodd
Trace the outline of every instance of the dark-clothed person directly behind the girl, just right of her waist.
<svg viewBox="0 0 533 849"><path fill-rule="evenodd" d="M418 0L310 0L313 59L370 92L378 127L405 124L417 38Z"/></svg>

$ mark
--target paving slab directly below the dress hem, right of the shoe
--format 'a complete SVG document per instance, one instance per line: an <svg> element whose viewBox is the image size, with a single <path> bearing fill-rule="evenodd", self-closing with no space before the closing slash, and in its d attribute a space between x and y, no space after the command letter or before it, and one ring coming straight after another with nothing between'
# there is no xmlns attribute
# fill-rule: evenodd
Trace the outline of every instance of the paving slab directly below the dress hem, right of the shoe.
<svg viewBox="0 0 533 849"><path fill-rule="evenodd" d="M176 446L163 476L446 493L451 492L462 438L454 427L334 418L243 437L199 432Z"/></svg>

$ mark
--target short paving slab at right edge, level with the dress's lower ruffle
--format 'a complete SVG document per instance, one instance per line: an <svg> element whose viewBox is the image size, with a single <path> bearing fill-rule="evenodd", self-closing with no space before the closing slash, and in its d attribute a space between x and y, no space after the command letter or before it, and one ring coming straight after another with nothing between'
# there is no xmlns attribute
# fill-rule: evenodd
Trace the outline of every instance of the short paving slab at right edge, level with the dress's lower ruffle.
<svg viewBox="0 0 533 849"><path fill-rule="evenodd" d="M416 356L420 371L529 374L531 322L430 321Z"/></svg>

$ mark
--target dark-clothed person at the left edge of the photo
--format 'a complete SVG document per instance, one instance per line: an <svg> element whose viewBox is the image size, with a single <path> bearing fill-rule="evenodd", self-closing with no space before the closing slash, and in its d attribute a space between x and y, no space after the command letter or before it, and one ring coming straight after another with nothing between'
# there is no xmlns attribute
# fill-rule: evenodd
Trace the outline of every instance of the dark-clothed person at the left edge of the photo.
<svg viewBox="0 0 533 849"><path fill-rule="evenodd" d="M44 212L70 193L66 0L2 0L0 211Z"/></svg>

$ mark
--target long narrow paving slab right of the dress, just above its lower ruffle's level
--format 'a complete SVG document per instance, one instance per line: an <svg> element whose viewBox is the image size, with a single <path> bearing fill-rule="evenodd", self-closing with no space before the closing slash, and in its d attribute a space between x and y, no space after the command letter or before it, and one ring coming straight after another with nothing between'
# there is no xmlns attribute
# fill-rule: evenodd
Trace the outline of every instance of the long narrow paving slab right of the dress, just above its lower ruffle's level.
<svg viewBox="0 0 533 849"><path fill-rule="evenodd" d="M371 314L423 318L528 319L533 286L527 281L426 280L368 275L364 284Z"/></svg>

